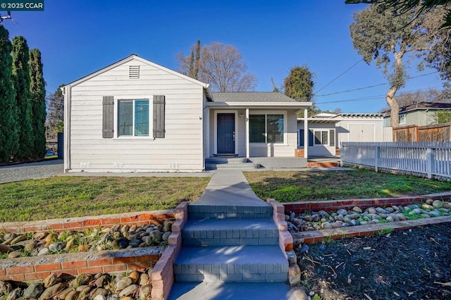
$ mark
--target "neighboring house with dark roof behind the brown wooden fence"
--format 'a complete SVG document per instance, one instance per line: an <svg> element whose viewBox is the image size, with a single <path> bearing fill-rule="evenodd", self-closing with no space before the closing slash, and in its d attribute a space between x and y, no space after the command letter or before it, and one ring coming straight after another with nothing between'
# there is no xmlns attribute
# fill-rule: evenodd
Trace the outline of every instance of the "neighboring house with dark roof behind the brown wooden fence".
<svg viewBox="0 0 451 300"><path fill-rule="evenodd" d="M400 126L435 125L435 114L438 111L451 111L451 103L420 102L400 108ZM384 111L384 126L390 126L390 110Z"/></svg>

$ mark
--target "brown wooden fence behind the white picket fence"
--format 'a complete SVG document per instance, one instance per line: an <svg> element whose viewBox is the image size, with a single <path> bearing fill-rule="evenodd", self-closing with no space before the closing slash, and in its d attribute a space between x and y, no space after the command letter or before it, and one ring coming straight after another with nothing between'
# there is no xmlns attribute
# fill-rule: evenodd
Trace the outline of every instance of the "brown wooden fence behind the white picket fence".
<svg viewBox="0 0 451 300"><path fill-rule="evenodd" d="M451 123L393 128L393 142L451 142Z"/></svg>

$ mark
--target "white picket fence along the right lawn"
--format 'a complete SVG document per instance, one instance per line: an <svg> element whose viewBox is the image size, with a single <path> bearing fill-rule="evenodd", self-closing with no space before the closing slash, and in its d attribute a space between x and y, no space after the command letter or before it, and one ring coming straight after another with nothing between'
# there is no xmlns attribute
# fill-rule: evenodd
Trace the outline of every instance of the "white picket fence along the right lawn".
<svg viewBox="0 0 451 300"><path fill-rule="evenodd" d="M342 165L451 180L451 142L342 142Z"/></svg>

